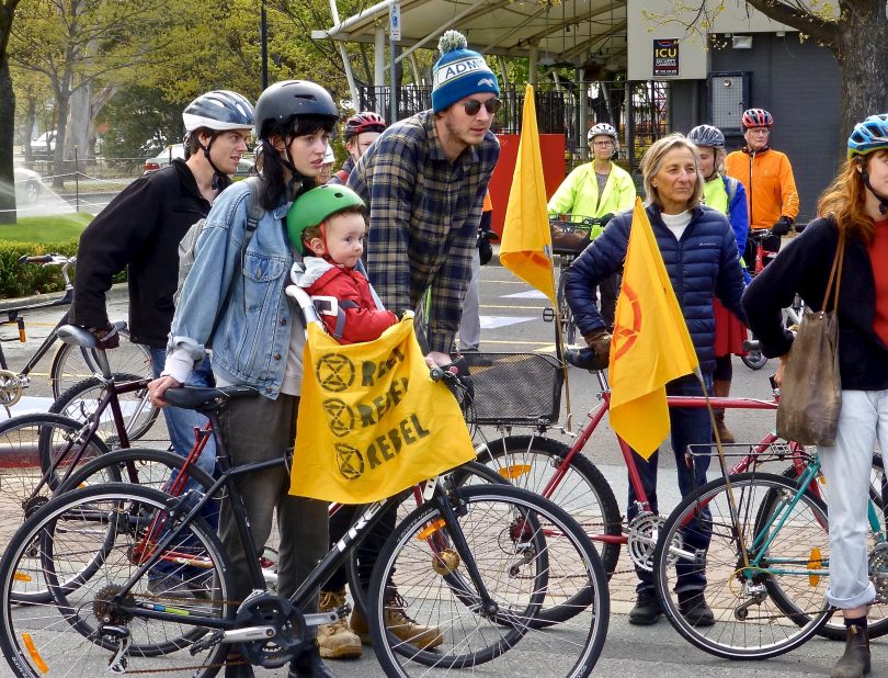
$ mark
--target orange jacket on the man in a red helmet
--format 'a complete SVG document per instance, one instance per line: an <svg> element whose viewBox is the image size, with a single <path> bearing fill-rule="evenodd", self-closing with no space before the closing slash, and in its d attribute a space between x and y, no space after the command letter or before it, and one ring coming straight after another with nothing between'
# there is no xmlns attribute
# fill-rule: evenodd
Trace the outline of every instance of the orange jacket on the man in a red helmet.
<svg viewBox="0 0 888 678"><path fill-rule="evenodd" d="M725 173L747 189L750 228L771 228L781 216L798 216L793 166L781 151L769 148L752 156L735 150L725 158Z"/></svg>

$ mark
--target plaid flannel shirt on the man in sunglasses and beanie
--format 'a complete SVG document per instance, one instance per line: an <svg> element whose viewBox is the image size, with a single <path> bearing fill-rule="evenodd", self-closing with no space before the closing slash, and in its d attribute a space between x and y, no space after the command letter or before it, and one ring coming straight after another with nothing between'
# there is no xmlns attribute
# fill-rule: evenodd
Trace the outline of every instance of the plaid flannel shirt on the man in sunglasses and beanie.
<svg viewBox="0 0 888 678"><path fill-rule="evenodd" d="M369 206L367 273L383 304L400 315L431 287L429 350L449 353L500 144L488 132L449 162L434 121L424 111L388 127L357 161L349 187Z"/></svg>

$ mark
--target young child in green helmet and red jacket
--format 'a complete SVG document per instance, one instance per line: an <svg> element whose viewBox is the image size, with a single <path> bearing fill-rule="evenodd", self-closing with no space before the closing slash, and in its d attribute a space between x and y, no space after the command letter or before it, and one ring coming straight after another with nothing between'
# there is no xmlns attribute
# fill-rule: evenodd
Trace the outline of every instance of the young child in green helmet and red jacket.
<svg viewBox="0 0 888 678"><path fill-rule="evenodd" d="M291 278L311 296L327 331L340 343L378 339L398 321L355 269L364 253L364 208L351 189L327 184L300 195L287 212L289 241L303 255Z"/></svg>

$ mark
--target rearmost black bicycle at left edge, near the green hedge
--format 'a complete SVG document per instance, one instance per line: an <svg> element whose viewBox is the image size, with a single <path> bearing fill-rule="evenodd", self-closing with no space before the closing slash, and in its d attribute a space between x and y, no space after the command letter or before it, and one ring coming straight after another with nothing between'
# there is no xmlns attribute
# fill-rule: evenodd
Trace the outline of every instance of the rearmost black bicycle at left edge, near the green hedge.
<svg viewBox="0 0 888 678"><path fill-rule="evenodd" d="M71 300L73 298L73 285L71 284L69 270L77 263L76 258L69 258L62 255L41 255L37 257L22 257L19 262L23 264L37 263L44 267L59 267L61 278L65 280L65 294L48 302L0 308L0 316L5 316L4 319L0 319L0 325L15 325L19 330L16 336L0 338L0 341L24 342L27 339L27 332L25 318L22 316L23 313L56 306L70 306ZM3 353L2 346L0 346L0 405L5 407L7 414L10 414L9 408L19 402L24 389L31 385L31 374L34 368L49 353L50 349L57 344L58 328L67 324L68 313L66 312L25 366L18 373L9 370L7 357ZM112 370L117 373L135 374L145 377L151 376L151 360L148 349L138 343L132 343L129 341L129 332L123 324L119 326L119 334L122 339L121 346L113 351L111 357ZM58 398L70 386L92 375L95 371L96 366L90 362L86 352L81 351L76 346L61 343L56 348L56 352L53 355L53 363L49 368L49 383L53 387L53 398Z"/></svg>

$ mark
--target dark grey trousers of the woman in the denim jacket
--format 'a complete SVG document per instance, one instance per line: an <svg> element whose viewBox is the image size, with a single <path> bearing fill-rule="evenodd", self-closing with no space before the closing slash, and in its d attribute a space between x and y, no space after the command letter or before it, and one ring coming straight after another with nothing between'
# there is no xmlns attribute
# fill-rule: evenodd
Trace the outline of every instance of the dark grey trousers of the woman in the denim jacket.
<svg viewBox="0 0 888 678"><path fill-rule="evenodd" d="M298 397L283 394L276 400L261 396L234 400L220 416L223 441L232 466L284 456L295 440L298 405ZM236 483L243 497L253 543L260 552L277 511L281 533L277 590L282 596L291 596L327 554L328 505L291 496L289 474L283 464L237 476ZM254 556L252 549L240 541L227 497L221 502L219 536L231 558L235 579L231 597L243 600L253 589L247 558ZM316 592L304 611L314 612L317 604Z"/></svg>

